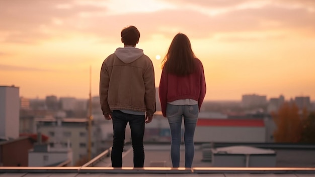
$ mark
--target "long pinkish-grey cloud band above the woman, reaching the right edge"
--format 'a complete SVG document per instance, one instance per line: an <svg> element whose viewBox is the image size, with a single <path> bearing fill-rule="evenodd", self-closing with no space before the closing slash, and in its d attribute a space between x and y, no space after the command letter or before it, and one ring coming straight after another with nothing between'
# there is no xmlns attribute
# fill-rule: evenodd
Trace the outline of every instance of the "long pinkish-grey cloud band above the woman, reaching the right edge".
<svg viewBox="0 0 315 177"><path fill-rule="evenodd" d="M137 18L138 15L131 15L128 20ZM120 21L119 18L116 19ZM177 32L187 32L196 38L206 38L216 33L315 30L315 16L305 9L283 9L275 6L235 10L213 17L190 10L167 10L147 14L140 21L146 22L143 27L149 33L174 35L172 30L178 29ZM161 26L164 30L159 30Z"/></svg>

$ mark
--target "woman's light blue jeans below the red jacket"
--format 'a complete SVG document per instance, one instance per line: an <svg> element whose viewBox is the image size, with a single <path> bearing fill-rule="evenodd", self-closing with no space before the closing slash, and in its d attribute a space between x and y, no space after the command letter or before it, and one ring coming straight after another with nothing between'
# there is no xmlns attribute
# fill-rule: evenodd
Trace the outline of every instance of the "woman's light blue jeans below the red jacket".
<svg viewBox="0 0 315 177"><path fill-rule="evenodd" d="M198 120L199 108L196 105L168 104L166 114L171 129L171 159L173 167L179 167L180 146L182 142L181 127L184 118L185 167L191 168L195 155L194 133Z"/></svg>

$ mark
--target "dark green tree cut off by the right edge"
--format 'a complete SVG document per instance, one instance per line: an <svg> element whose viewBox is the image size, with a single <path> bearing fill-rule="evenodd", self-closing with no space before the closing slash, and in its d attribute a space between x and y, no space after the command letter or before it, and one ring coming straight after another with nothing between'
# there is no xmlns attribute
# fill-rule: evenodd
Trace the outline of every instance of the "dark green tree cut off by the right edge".
<svg viewBox="0 0 315 177"><path fill-rule="evenodd" d="M310 112L303 121L302 143L315 143L315 112Z"/></svg>

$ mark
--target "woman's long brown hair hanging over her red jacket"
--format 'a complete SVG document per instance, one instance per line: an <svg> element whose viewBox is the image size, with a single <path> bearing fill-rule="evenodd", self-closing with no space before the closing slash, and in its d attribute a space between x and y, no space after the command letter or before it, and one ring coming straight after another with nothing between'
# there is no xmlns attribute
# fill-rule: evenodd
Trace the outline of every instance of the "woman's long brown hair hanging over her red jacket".
<svg viewBox="0 0 315 177"><path fill-rule="evenodd" d="M188 37L185 34L178 33L173 38L162 61L162 68L177 76L189 75L196 70L195 58Z"/></svg>

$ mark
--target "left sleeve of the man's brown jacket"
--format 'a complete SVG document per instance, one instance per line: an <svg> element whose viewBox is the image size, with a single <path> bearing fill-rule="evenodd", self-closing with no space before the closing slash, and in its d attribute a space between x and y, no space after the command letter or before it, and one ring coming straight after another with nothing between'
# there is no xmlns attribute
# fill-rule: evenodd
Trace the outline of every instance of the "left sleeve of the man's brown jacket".
<svg viewBox="0 0 315 177"><path fill-rule="evenodd" d="M103 114L110 114L111 110L108 105L108 87L109 87L109 74L108 68L105 64L105 61L102 64L101 73L100 73L100 102Z"/></svg>

